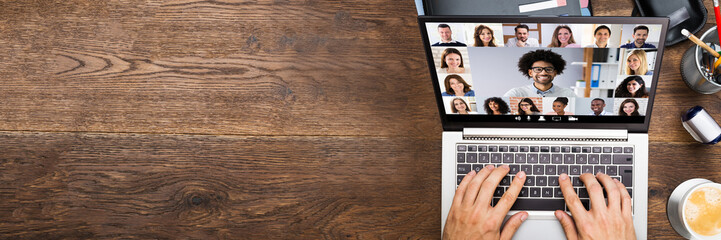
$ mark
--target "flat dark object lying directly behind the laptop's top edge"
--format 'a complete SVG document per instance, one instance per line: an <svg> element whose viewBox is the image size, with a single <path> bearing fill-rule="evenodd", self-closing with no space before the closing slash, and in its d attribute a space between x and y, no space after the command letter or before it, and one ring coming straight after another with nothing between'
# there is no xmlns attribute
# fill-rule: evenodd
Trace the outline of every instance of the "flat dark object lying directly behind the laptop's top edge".
<svg viewBox="0 0 721 240"><path fill-rule="evenodd" d="M423 0L425 15L591 16L590 0L567 0L565 6L531 7L548 0ZM538 5L536 5L538 6ZM529 9L538 9L529 11Z"/></svg>

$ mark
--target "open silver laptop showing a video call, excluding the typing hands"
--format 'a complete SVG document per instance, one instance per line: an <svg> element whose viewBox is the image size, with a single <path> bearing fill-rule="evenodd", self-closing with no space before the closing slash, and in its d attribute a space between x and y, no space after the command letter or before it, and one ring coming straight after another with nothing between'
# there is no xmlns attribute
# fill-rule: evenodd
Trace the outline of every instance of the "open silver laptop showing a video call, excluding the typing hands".
<svg viewBox="0 0 721 240"><path fill-rule="evenodd" d="M419 16L441 122L441 229L470 171L508 164L527 180L508 216L514 239L564 239L567 173L586 208L582 173L623 182L639 239L647 232L648 126L669 20L640 17Z"/></svg>

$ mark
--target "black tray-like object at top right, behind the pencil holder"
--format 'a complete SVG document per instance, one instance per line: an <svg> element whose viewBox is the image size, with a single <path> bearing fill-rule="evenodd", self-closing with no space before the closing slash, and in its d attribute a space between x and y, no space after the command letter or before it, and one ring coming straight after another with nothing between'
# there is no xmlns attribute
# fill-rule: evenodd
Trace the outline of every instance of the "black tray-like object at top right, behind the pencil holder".
<svg viewBox="0 0 721 240"><path fill-rule="evenodd" d="M686 39L681 29L688 29L695 34L706 24L707 10L702 0L635 0L635 3L631 16L670 18L666 46Z"/></svg>

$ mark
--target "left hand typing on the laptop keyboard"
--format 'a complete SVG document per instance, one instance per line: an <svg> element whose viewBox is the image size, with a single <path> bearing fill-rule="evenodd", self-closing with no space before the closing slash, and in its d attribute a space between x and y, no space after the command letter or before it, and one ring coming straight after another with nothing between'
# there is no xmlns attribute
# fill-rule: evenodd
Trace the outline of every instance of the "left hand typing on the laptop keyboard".
<svg viewBox="0 0 721 240"><path fill-rule="evenodd" d="M443 239L511 239L526 218L527 212L513 214L501 231L503 219L516 201L526 180L523 171L516 174L511 186L495 207L491 207L493 192L508 174L508 165L498 168L488 165L478 173L471 170L458 185L448 212Z"/></svg>

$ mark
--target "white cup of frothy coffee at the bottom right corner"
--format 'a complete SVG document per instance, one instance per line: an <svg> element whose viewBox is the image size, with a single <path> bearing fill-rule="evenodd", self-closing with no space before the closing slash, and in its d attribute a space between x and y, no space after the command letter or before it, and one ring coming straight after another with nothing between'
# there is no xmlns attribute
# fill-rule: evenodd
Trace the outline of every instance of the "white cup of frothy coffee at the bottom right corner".
<svg viewBox="0 0 721 240"><path fill-rule="evenodd" d="M673 229L687 239L721 239L721 184L701 178L681 183L666 212Z"/></svg>

